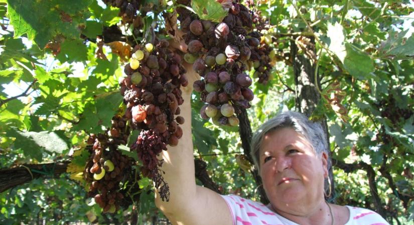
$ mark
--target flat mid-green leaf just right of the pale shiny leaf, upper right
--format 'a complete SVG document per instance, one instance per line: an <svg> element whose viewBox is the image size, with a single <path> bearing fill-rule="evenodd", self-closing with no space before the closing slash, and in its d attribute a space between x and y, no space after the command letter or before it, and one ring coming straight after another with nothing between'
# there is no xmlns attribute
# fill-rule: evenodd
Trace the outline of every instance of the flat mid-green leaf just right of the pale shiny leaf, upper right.
<svg viewBox="0 0 414 225"><path fill-rule="evenodd" d="M374 78L371 74L375 67L371 57L357 49L355 49L350 43L345 43L346 56L344 59L344 67L348 72L360 79L366 80L368 78Z"/></svg>

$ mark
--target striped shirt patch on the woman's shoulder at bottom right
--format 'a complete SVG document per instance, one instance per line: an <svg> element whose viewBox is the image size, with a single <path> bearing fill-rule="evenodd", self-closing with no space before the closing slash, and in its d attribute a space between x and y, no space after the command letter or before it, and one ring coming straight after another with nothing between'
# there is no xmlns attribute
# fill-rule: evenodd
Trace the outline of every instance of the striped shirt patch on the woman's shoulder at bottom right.
<svg viewBox="0 0 414 225"><path fill-rule="evenodd" d="M389 225L389 223L378 213L367 208L346 205L349 209L349 220L345 225L351 224L378 224Z"/></svg>

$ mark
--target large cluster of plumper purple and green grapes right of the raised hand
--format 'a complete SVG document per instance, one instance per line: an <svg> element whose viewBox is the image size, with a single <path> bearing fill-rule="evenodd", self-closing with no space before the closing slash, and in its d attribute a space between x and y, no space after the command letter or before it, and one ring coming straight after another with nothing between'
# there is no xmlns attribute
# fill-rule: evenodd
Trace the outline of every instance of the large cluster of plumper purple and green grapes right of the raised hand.
<svg viewBox="0 0 414 225"><path fill-rule="evenodd" d="M189 5L187 0L181 4ZM229 13L220 23L201 20L184 7L177 8L181 29L185 32L188 53L184 59L202 79L194 82L206 104L200 114L212 118L217 125L236 126L238 107L250 107L252 79L244 73L248 65L256 65L259 82L266 82L269 73L266 49L259 46L261 34L252 31L251 12L237 1L225 4Z"/></svg>

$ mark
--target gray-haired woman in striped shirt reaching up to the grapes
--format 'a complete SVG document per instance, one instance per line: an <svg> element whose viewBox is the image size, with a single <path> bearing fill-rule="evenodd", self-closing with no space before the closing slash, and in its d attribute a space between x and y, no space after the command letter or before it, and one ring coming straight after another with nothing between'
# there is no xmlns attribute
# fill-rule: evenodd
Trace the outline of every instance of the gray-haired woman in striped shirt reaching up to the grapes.
<svg viewBox="0 0 414 225"><path fill-rule="evenodd" d="M186 118L191 116L191 91L183 89L181 113ZM371 210L325 201L328 145L322 127L300 113L281 113L253 136L251 155L268 205L196 185L191 119L183 126L179 144L161 155L170 201L156 195L157 206L174 224L388 224Z"/></svg>

